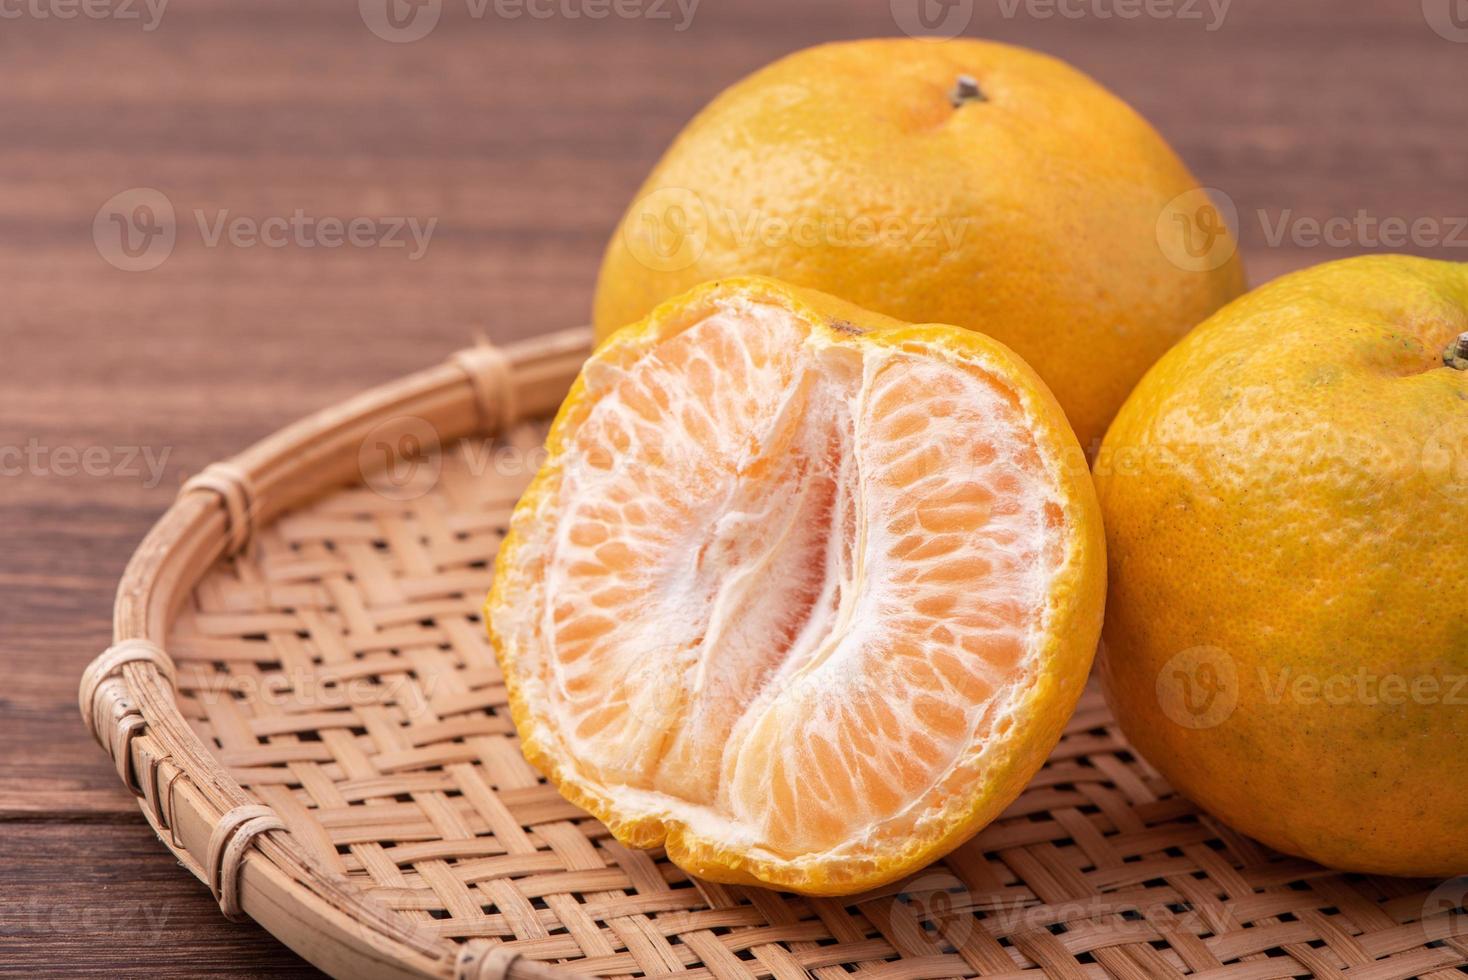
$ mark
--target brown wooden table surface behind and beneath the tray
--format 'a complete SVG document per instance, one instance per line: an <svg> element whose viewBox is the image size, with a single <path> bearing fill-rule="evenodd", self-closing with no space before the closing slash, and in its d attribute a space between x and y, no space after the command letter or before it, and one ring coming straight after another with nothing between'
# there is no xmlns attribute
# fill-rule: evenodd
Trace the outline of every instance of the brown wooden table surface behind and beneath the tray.
<svg viewBox="0 0 1468 980"><path fill-rule="evenodd" d="M671 21L565 16L578 0L506 19L489 0L476 19L445 0L405 44L346 0L176 0L151 31L141 3L142 22L15 7L0 26L0 452L32 447L38 465L0 477L0 974L311 973L219 915L82 732L78 675L107 646L128 555L211 459L479 332L586 321L612 223L700 104L794 48L895 34L904 3L703 0L677 31L675 4ZM1468 43L1418 0L1235 0L1216 31L1100 16L1108 0L1072 0L1080 18L972 7L969 35L1091 72L1226 191L1254 283L1373 251L1274 245L1261 210L1445 230L1468 213ZM179 239L160 267L123 271L92 219L138 186L175 205ZM417 261L207 246L192 214L222 208L437 227ZM1468 232L1399 251L1468 258ZM66 453L88 447L92 472L70 472ZM131 447L161 459L157 478L132 472Z"/></svg>

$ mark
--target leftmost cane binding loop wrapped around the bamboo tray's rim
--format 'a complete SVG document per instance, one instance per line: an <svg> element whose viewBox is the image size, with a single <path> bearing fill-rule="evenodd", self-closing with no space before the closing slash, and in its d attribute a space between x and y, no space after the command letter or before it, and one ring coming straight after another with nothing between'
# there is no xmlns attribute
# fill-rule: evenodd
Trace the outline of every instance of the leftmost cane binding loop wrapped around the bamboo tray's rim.
<svg viewBox="0 0 1468 980"><path fill-rule="evenodd" d="M160 760L148 760L151 794L144 789L132 769L132 739L147 728L147 720L142 717L142 709L134 700L128 682L122 678L122 669L129 663L151 663L160 675L167 678L170 687L175 684L173 659L163 647L148 640L123 640L104 650L82 672L76 706L81 709L87 731L112 756L123 785L135 797L148 798L150 804L156 807ZM154 817L159 816L154 813Z"/></svg>

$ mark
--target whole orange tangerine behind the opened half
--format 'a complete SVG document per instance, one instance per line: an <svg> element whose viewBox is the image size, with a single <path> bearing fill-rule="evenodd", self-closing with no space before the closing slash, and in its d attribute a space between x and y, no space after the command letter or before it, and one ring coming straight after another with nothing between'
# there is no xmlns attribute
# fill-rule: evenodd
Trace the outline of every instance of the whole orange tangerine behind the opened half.
<svg viewBox="0 0 1468 980"><path fill-rule="evenodd" d="M960 75L981 98L956 107ZM696 283L778 276L1006 343L1089 452L1147 368L1243 290L1227 230L1179 224L1204 201L1147 120L1063 62L825 44L738 82L672 144L606 248L597 336ZM1205 244L1214 268L1192 264Z"/></svg>

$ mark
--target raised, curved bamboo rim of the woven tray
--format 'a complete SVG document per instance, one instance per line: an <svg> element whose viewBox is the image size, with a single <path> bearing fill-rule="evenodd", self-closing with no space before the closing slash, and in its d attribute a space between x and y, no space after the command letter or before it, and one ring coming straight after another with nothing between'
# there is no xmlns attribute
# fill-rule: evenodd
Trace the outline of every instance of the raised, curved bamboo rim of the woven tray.
<svg viewBox="0 0 1468 980"><path fill-rule="evenodd" d="M113 646L82 673L82 719L138 797L173 855L230 918L254 918L335 976L575 976L483 943L429 940L332 874L214 758L175 701L164 650L178 606L255 527L352 481L376 425L429 420L445 445L495 434L559 405L592 349L590 327L506 345L479 343L286 425L186 481L128 562L113 609ZM351 458L348 458L351 456ZM252 845L252 846L251 846ZM297 918L321 942L282 926Z"/></svg>

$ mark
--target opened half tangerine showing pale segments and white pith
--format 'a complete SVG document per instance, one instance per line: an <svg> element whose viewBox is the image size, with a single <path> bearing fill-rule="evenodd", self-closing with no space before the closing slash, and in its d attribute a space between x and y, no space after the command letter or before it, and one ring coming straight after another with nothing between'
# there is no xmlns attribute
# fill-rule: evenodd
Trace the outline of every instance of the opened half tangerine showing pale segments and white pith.
<svg viewBox="0 0 1468 980"><path fill-rule="evenodd" d="M1044 763L1102 534L1044 383L969 330L709 283L587 361L487 601L526 757L690 874L818 895Z"/></svg>

